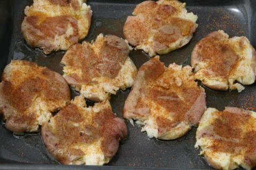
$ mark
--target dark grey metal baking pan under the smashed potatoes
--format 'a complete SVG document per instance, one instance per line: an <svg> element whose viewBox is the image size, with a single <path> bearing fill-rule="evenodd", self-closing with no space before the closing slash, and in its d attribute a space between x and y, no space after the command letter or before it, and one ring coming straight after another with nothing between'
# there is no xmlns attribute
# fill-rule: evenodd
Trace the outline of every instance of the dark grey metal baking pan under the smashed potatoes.
<svg viewBox="0 0 256 170"><path fill-rule="evenodd" d="M95 39L100 33L123 37L123 25L131 15L135 5L141 0L130 1L87 1L93 11L92 26L85 41ZM162 55L161 61L188 65L190 53L195 44L205 35L215 30L224 30L230 37L246 36L256 47L256 1L254 0L182 0L187 10L198 16L198 28L191 41L182 48ZM41 50L33 49L22 38L20 26L24 17L25 6L33 1L0 0L0 74L6 64L14 60L29 60L62 74L60 60L65 52L44 55ZM130 56L137 68L148 61L149 56L133 50ZM204 87L204 86L203 86ZM245 86L241 93L237 91L213 91L207 87L207 107L223 110L225 106L255 110L255 83ZM78 95L72 90L72 96ZM130 89L118 91L111 96L111 106L118 117L122 118L125 99ZM93 104L87 101L88 104ZM212 169L198 156L194 148L196 127L185 136L176 140L165 141L149 139L141 133L141 127L132 126L126 121L129 136L121 142L116 155L106 166L65 166L60 165L47 153L39 133L15 135L0 121L0 169Z"/></svg>

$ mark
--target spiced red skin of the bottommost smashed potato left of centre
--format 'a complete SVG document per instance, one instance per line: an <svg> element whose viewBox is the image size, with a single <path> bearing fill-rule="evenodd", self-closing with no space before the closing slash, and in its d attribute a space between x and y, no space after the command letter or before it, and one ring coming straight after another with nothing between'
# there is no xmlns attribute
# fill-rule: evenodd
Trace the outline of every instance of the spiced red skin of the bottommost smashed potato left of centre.
<svg viewBox="0 0 256 170"><path fill-rule="evenodd" d="M81 128L70 124L70 122L82 123L86 119L82 115L78 106L70 104L53 118L55 126L51 123L42 125L41 134L46 149L62 164L70 164L85 155L82 150L69 149L73 144L90 144L102 137L101 150L106 157L111 158L119 148L119 141L127 136L124 120L116 117L109 108L97 113L92 118L92 125L84 124L84 128ZM83 134L81 131L87 131L88 134Z"/></svg>

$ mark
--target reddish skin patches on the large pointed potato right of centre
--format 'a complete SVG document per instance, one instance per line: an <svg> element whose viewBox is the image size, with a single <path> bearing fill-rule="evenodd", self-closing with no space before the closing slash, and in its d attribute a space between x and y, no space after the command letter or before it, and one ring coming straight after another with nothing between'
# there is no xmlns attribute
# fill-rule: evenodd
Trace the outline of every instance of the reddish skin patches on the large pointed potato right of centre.
<svg viewBox="0 0 256 170"><path fill-rule="evenodd" d="M138 119L142 122L144 120L147 120L151 116L151 109L153 109L151 108L151 105L146 104L144 100L154 100L156 103L161 105L161 107L169 110L169 112L174 111L172 112L172 114L175 118L173 118L174 120L172 121L161 117L155 118L158 126L159 139L161 139L161 137L164 136L167 132L171 131L172 127L175 127L181 121L187 122L189 126L197 126L199 119L205 111L206 106L204 90L203 88L198 86L194 86L193 90L187 89L185 92L180 93L180 95L183 96L184 100L191 103L190 107L187 109L185 107L184 110L179 111L177 105L171 105L171 101L167 101L167 99L158 100L158 98L162 97L172 99L175 98L177 100L180 100L178 95L174 92L170 92L169 90L167 90L167 87L166 91L164 91L163 88L159 90L158 86L154 87L153 83L150 83L159 82L159 77L162 76L165 69L166 68L164 66L164 63L160 62L159 59L156 58L152 58L148 62L142 64L138 71L137 77L134 80L132 90L125 101L123 110L124 118ZM180 87L174 86L169 88L177 88L177 91L181 89ZM193 91L196 92L194 93ZM180 100L180 102L182 101ZM179 106L181 106L181 104ZM187 131L182 132L182 134L177 135L177 137L180 137L186 133Z"/></svg>

